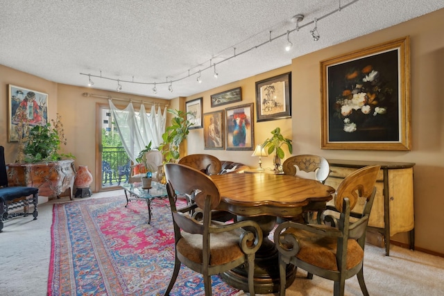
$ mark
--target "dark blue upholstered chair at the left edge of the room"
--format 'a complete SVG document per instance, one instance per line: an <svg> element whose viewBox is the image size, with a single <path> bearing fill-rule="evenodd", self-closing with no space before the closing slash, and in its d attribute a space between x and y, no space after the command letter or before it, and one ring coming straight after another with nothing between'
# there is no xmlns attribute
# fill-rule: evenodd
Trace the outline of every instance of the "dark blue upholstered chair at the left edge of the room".
<svg viewBox="0 0 444 296"><path fill-rule="evenodd" d="M33 217L37 220L37 202L39 189L27 186L8 186L6 173L5 148L0 146L0 232L3 230L3 221L16 216L28 216L27 207L34 205ZM28 199L29 195L33 195ZM22 212L9 212L9 209L19 209Z"/></svg>

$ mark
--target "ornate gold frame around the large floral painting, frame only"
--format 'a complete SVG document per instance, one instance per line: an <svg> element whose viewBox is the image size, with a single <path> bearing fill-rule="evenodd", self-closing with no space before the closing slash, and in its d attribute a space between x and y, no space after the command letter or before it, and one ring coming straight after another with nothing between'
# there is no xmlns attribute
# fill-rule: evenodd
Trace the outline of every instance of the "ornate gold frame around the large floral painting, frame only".
<svg viewBox="0 0 444 296"><path fill-rule="evenodd" d="M330 141L329 97L327 69L343 62L359 60L398 49L399 92L399 141ZM411 150L411 103L410 103L410 40L409 36L384 42L365 49L329 58L321 64L321 148L349 150Z"/></svg>

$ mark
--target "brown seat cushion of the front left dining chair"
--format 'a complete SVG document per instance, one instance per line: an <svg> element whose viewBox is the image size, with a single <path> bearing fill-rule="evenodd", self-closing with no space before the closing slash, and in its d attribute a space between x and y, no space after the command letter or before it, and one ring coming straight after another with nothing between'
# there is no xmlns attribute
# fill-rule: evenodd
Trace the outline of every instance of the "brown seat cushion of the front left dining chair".
<svg viewBox="0 0 444 296"><path fill-rule="evenodd" d="M239 232L210 234L210 265L221 265L244 256L239 247ZM182 233L176 245L176 252L196 263L202 263L202 235Z"/></svg>

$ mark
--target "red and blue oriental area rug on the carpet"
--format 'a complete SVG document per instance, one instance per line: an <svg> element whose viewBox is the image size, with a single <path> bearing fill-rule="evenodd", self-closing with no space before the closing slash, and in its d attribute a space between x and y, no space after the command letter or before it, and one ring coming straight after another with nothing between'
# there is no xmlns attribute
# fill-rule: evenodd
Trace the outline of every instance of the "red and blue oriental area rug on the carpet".
<svg viewBox="0 0 444 296"><path fill-rule="evenodd" d="M125 196L54 204L48 295L164 295L174 265L169 201L151 203L151 225L146 202L125 204ZM219 276L212 291L244 294ZM170 295L205 295L203 278L182 265Z"/></svg>

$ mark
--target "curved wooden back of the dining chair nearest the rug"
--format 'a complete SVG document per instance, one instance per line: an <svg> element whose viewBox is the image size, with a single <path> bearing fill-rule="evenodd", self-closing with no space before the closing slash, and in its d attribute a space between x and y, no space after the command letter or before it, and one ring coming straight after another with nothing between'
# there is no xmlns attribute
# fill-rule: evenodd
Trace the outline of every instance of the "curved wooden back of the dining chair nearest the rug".
<svg viewBox="0 0 444 296"><path fill-rule="evenodd" d="M200 209L205 209L205 200L210 199L210 210L221 202L219 188L210 177L183 164L165 164L167 182L175 191L189 194Z"/></svg>

